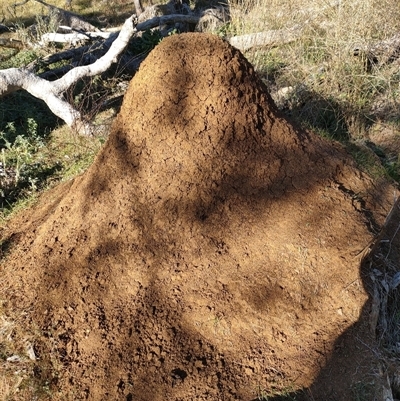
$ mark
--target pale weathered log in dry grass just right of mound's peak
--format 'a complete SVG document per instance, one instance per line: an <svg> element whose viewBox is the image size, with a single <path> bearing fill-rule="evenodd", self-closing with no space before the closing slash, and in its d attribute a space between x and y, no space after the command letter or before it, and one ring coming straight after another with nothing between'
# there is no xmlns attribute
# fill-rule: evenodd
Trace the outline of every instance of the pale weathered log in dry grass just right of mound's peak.
<svg viewBox="0 0 400 401"><path fill-rule="evenodd" d="M248 35L233 36L229 42L244 52L256 47L278 46L294 42L301 37L303 29L295 26L291 29L277 29Z"/></svg>

